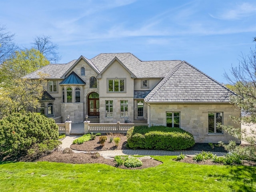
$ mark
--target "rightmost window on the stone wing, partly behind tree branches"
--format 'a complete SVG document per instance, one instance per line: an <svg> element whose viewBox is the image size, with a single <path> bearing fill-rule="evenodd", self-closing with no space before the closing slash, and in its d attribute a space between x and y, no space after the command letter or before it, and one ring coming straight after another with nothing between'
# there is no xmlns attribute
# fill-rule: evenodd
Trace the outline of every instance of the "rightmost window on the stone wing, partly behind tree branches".
<svg viewBox="0 0 256 192"><path fill-rule="evenodd" d="M208 112L208 133L223 133L218 124L223 124L223 112Z"/></svg>

